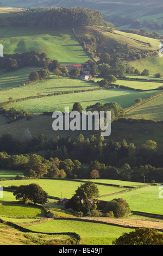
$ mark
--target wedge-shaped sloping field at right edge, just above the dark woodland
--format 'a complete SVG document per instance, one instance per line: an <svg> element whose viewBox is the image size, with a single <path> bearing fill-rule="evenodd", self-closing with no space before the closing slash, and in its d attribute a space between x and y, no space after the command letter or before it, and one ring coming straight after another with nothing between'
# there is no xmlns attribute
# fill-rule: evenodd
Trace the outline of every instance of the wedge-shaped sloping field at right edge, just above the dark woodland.
<svg viewBox="0 0 163 256"><path fill-rule="evenodd" d="M163 120L162 112L163 95L134 108L125 114L126 118Z"/></svg>

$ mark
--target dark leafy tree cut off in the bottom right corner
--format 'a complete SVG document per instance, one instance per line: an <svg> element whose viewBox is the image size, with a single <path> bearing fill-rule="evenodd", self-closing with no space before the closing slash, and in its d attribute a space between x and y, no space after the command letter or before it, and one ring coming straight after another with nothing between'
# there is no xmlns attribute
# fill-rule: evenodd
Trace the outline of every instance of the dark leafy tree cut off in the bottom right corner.
<svg viewBox="0 0 163 256"><path fill-rule="evenodd" d="M130 233L123 233L112 245L163 245L163 235L156 229L137 228Z"/></svg>

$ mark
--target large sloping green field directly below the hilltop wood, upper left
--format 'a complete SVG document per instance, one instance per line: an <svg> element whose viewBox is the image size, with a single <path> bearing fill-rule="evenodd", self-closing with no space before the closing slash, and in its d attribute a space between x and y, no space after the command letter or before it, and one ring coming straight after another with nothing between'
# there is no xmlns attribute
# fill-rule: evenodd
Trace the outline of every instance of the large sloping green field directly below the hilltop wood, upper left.
<svg viewBox="0 0 163 256"><path fill-rule="evenodd" d="M61 64L85 63L90 59L71 29L6 27L1 44L4 53L45 52Z"/></svg>

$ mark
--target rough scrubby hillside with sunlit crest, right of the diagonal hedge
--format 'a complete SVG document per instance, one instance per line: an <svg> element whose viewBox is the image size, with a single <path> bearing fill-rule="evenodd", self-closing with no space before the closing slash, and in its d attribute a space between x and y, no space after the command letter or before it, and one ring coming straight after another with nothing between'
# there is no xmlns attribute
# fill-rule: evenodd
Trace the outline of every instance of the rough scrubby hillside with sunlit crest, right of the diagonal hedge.
<svg viewBox="0 0 163 256"><path fill-rule="evenodd" d="M150 58L158 54L160 41L147 36L124 33L108 27L77 27L74 28L85 49L98 59L99 53L107 52L122 60L133 58Z"/></svg>

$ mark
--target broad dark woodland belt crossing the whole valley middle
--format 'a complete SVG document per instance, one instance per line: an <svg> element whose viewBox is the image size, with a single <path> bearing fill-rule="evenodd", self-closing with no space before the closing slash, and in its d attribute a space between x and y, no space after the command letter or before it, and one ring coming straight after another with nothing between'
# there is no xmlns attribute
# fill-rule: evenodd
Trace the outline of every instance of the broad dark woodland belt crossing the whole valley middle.
<svg viewBox="0 0 163 256"><path fill-rule="evenodd" d="M1 168L22 169L29 178L45 175L47 178L143 182L143 176L146 176L147 182L163 182L162 153L157 143L150 140L136 147L134 143L104 140L98 135L86 139L79 135L76 141L70 136L47 141L41 135L26 142L3 135L0 137L0 151ZM83 163L87 167L83 167Z"/></svg>

